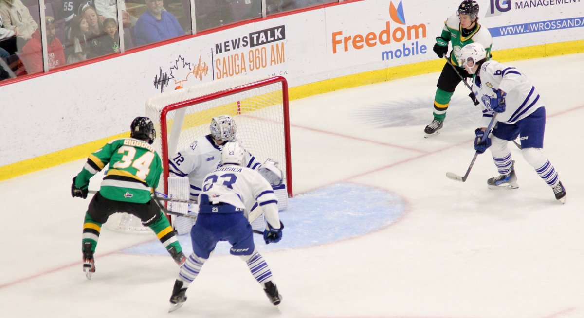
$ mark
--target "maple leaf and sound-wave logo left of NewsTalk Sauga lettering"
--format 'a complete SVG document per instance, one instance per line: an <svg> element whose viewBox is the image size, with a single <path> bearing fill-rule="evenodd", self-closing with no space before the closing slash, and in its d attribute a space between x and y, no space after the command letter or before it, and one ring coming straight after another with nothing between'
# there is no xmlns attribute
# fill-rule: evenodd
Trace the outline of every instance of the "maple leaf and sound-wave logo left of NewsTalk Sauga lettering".
<svg viewBox="0 0 584 318"><path fill-rule="evenodd" d="M185 86L185 82L189 81L189 77L191 79L199 79L199 82L201 82L203 77L207 76L208 71L207 63L203 62L201 57L199 57L197 64L191 65L190 62L186 62L185 58L179 55L169 72L162 72L162 67L158 67L158 75L154 76L154 88L160 89L160 92L163 93L164 88L170 85L172 79L175 90L181 89Z"/></svg>

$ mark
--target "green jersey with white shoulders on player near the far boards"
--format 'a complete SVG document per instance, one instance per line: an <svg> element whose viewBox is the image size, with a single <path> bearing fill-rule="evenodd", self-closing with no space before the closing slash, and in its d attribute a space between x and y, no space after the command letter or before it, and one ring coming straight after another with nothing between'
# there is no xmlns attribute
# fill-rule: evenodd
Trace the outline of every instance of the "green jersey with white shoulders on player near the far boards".
<svg viewBox="0 0 584 318"><path fill-rule="evenodd" d="M460 26L460 19L458 19L458 15L455 13L451 15L445 22L444 27L442 29L442 39L446 42L450 41L452 44L452 51L450 53L450 61L454 65L458 64L458 58L460 58L460 50L467 44L471 43L480 43L485 48L486 57L489 59L491 57L491 47L493 45L493 39L491 37L491 33L486 27L481 26L478 22L475 23L474 29L463 36L463 30Z"/></svg>

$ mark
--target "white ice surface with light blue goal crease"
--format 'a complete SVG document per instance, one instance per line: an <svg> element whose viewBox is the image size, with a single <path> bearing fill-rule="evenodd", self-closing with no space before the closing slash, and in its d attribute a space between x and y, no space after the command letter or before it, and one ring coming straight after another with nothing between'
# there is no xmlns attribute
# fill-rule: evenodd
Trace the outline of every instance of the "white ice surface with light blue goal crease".
<svg viewBox="0 0 584 318"><path fill-rule="evenodd" d="M506 64L547 103L544 151L565 205L512 144L518 189L486 187L498 174L489 152L465 183L446 178L474 155L480 112L465 86L427 139L437 73L339 90L290 104L295 197L281 242L256 236L279 307L221 245L167 313L172 258L152 233L105 226L86 279L89 200L70 195L83 159L0 181L0 317L584 317L584 54Z"/></svg>

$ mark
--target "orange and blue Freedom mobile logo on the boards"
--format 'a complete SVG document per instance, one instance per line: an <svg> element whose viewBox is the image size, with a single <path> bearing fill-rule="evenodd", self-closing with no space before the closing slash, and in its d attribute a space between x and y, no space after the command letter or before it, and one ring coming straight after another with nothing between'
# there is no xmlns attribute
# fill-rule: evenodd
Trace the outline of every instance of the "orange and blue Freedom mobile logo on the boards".
<svg viewBox="0 0 584 318"><path fill-rule="evenodd" d="M385 22L385 29L378 32L369 32L367 34L354 34L345 36L342 31L331 33L332 35L332 54L347 52L349 50L361 50L366 47L376 47L378 45L388 45L392 43L403 43L401 48L381 52L381 59L388 60L393 58L408 57L411 55L426 54L425 45L418 43L418 39L426 37L426 25L406 25L403 1L399 1L396 7L390 2L391 21ZM394 22L397 26L392 27ZM412 41L414 40L414 41Z"/></svg>

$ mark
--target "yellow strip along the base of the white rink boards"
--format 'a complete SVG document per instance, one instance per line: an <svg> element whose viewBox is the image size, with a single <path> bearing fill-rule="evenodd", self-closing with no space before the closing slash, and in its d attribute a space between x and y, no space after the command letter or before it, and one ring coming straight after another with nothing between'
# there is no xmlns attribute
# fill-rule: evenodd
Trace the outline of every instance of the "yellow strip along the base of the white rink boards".
<svg viewBox="0 0 584 318"><path fill-rule="evenodd" d="M509 62L516 60L529 60L530 58L551 57L555 55L566 55L584 53L584 40L568 41L561 43L550 43L539 46L509 48L507 50L493 51L493 59L499 62ZM432 54L432 52L428 52ZM326 79L324 81L296 86L288 90L290 100L301 99L308 96L333 92L335 90L353 88L361 85L392 81L394 79L406 78L410 76L439 72L444 66L441 59L399 65L376 71L362 72L358 74L340 76L338 78ZM208 118L210 121L210 118ZM127 138L128 132L123 134L102 138L86 144L74 146L68 149L48 153L47 155L22 160L0 167L0 181L11 179L23 174L47 169L62 163L71 162L81 158L87 158L87 154L99 149L112 139ZM81 169L81 167L79 168Z"/></svg>

